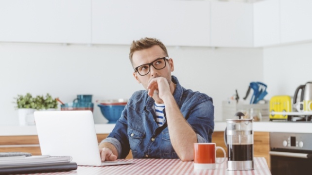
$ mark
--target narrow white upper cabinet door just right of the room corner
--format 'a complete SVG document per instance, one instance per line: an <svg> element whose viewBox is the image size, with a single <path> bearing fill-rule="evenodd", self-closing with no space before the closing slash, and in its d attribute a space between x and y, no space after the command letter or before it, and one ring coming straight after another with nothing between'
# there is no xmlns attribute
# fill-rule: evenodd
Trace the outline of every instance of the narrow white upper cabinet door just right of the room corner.
<svg viewBox="0 0 312 175"><path fill-rule="evenodd" d="M254 3L254 46L280 44L279 0Z"/></svg>

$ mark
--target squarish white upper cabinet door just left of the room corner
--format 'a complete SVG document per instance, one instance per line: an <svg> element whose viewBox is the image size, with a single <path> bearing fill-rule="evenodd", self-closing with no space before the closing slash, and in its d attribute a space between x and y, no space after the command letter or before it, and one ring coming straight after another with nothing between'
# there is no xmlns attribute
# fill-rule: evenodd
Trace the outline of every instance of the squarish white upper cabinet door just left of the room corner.
<svg viewBox="0 0 312 175"><path fill-rule="evenodd" d="M253 47L252 3L211 2L211 45Z"/></svg>

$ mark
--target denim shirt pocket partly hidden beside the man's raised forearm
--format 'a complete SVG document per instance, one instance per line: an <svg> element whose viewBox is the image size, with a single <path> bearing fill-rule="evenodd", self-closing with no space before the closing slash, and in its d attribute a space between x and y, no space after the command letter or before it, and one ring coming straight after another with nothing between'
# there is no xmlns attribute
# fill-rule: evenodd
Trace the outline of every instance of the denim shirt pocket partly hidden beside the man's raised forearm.
<svg viewBox="0 0 312 175"><path fill-rule="evenodd" d="M170 141L170 136L168 131L164 131L161 136L160 144L160 158L162 159L176 159L179 158L173 149L172 143Z"/></svg>

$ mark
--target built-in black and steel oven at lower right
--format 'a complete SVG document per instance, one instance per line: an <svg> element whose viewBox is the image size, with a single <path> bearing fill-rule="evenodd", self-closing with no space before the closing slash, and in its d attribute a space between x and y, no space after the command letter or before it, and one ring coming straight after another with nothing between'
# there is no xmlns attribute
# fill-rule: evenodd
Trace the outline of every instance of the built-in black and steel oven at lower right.
<svg viewBox="0 0 312 175"><path fill-rule="evenodd" d="M312 133L270 133L272 175L312 175Z"/></svg>

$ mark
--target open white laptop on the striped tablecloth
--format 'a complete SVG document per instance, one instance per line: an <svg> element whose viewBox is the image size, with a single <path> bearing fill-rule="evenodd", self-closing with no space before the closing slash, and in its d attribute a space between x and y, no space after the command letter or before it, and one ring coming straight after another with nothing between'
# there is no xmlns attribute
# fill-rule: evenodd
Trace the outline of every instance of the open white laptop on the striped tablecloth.
<svg viewBox="0 0 312 175"><path fill-rule="evenodd" d="M107 166L130 164L101 161L91 111L35 111L42 155L71 156L77 165Z"/></svg>

